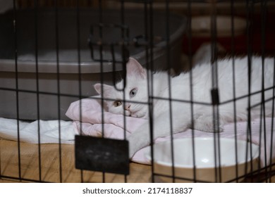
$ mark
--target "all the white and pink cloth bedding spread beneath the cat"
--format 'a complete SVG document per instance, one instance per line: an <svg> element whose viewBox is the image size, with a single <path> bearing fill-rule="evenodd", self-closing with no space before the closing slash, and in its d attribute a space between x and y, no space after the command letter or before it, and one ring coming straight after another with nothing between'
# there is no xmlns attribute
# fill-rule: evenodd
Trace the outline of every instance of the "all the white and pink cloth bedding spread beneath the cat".
<svg viewBox="0 0 275 197"><path fill-rule="evenodd" d="M59 141L63 144L73 144L75 134L103 135L111 139L124 139L124 132L126 132L127 137L146 121L141 118L108 113L106 110L102 110L99 98L85 98L71 103L66 115L72 121L36 120L34 122L20 122L0 117L0 137L32 144L59 143ZM275 160L274 123L274 119L271 117L253 120L251 122L251 139L250 136L247 136L247 122L225 125L224 132L221 132L219 136L234 139L236 136L240 140L250 139L252 143L260 145L261 164L266 166L270 164L270 158L273 162ZM263 132L263 127L265 127L266 132ZM173 134L173 139L188 138L193 135L195 137L212 137L214 133L187 129L178 134ZM171 137L158 138L154 143L167 140L171 140ZM133 162L149 164L149 160L145 158L148 151L150 151L149 146L135 153L132 158Z"/></svg>

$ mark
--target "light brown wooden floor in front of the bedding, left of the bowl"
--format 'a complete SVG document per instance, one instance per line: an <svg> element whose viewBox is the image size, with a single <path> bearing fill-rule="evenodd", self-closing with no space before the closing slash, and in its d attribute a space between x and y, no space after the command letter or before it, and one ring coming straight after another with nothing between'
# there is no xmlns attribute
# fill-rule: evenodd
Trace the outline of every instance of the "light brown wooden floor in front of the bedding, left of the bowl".
<svg viewBox="0 0 275 197"><path fill-rule="evenodd" d="M20 151L20 154L18 152ZM20 155L20 156L19 156ZM130 163L130 175L75 169L74 146L0 139L0 182L151 182L151 167ZM13 177L16 179L9 179Z"/></svg>

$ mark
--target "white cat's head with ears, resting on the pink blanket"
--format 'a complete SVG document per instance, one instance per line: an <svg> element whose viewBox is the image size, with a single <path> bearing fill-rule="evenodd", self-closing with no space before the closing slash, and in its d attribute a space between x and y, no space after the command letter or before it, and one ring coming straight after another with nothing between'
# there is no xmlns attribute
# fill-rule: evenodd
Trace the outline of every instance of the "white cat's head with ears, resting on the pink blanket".
<svg viewBox="0 0 275 197"><path fill-rule="evenodd" d="M123 89L123 80L116 84L117 89L107 84L95 84L94 89L103 98L108 99L105 103L109 112L147 118L148 107L145 104L148 102L147 72L134 58L129 58L126 71L124 91L117 90Z"/></svg>

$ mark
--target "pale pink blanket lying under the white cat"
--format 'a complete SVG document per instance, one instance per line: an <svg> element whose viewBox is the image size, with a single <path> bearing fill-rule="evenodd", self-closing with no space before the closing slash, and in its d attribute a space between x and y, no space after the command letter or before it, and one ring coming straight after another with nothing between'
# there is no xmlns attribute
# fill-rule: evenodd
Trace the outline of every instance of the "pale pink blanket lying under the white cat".
<svg viewBox="0 0 275 197"><path fill-rule="evenodd" d="M106 110L103 110L104 118L102 120L101 100L94 97L85 98L80 101L75 101L71 103L71 106L68 108L66 115L73 120L73 126L78 129L79 133L80 130L82 134L90 136L102 136L102 133L104 133L104 137L112 139L124 139L124 127L126 128L126 136L128 136L128 134L135 132L135 130L146 121L140 118L116 115L106 112ZM264 125L261 124L261 122L263 123L264 121L266 123L265 134L263 132L264 129L260 129L260 125ZM270 117L266 117L262 120L257 119L251 122L252 142L261 146L260 158L262 166L269 165L270 158L272 158L273 163L275 161L275 132L274 128L271 127L272 122L274 122L274 119ZM247 122L237 122L236 127L238 131L237 138L246 140ZM195 136L214 136L213 133L200 132L197 130L194 130L194 134ZM260 134L262 134L261 137ZM224 132L220 133L220 136L225 138L235 138L235 135L235 125L233 123L225 125ZM173 139L186 138L191 136L192 129L188 129L184 132L174 134ZM170 136L158 138L155 140L155 143L159 143L161 141L166 141L169 139ZM266 139L266 141L264 141L264 139ZM147 151L149 151L149 146L142 148L140 151L135 153L132 160L136 163L149 164L149 160L145 158L145 153Z"/></svg>

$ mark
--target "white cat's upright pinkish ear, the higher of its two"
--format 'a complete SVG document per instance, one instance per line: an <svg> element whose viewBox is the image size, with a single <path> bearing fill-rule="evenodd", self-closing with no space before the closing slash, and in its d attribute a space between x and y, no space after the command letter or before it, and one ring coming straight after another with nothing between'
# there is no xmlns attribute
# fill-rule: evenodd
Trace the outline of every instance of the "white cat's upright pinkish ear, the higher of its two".
<svg viewBox="0 0 275 197"><path fill-rule="evenodd" d="M126 70L128 76L134 75L145 79L147 75L145 68L143 68L134 58L129 58Z"/></svg>

